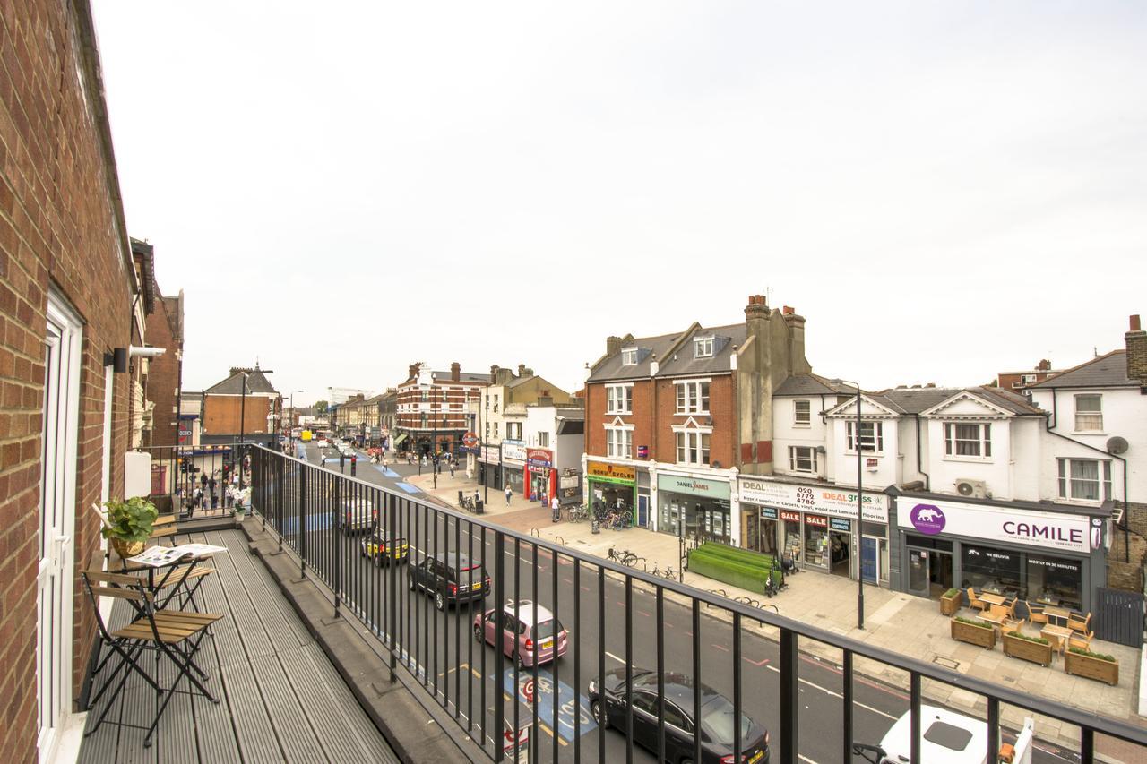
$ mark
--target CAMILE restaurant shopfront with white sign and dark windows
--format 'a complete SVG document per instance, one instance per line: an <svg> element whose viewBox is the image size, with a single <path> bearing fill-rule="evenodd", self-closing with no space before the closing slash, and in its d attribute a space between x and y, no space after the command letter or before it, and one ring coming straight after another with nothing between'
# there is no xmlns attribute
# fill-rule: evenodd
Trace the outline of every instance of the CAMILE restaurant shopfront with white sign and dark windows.
<svg viewBox="0 0 1147 764"><path fill-rule="evenodd" d="M1092 588L1106 580L1109 515L1099 512L900 497L902 591L936 598L972 586L1089 610Z"/></svg>

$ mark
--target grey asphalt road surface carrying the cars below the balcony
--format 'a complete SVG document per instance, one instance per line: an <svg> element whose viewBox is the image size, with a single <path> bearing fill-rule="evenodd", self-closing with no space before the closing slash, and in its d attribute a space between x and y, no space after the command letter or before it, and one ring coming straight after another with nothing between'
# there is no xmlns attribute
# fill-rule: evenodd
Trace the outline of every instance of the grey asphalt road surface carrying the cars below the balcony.
<svg viewBox="0 0 1147 764"><path fill-rule="evenodd" d="M305 452L309 461L318 463L319 452L314 446ZM337 452L330 451L328 455L334 460L327 462L327 468L338 471ZM403 463L383 473L365 457L359 459L357 467L357 477L364 482L397 489L411 498L428 499L408 484L404 488L404 476L416 473L416 467ZM345 474L350 474L349 466ZM366 500L365 494L366 491L362 491L356 497L341 498L361 502ZM459 523L453 517L436 516L413 502L400 505L396 522L400 535L411 543L412 560L416 561L422 554L455 549L468 553L473 549L473 556L482 561L489 575L494 576L493 531L486 530L483 538L481 529L471 527L466 520ZM397 634L399 644L406 648L405 658L409 668L463 727L470 724L475 738L478 738L477 726L481 724L486 732L487 746L493 744L490 733L496 733L500 741L497 733L500 733L501 725L496 724L493 717L494 693L507 693L505 696L509 699L508 693L517 687L517 696L524 702L515 707L513 701L507 700L505 712L514 719L516 708L518 716L515 725L531 727L531 738L538 743L537 761L594 761L602 751L604 759L610 762L655 761L654 755L640 748L629 751L624 734L602 732L596 727L588 711L586 685L599 672L599 656L604 658L606 670L627 664L634 669L656 669L658 639L663 640L665 672L692 676L694 645L699 645L701 681L732 699L739 679L743 712L773 731L774 735L779 730L779 650L755 624L742 623L741 655L734 663L732 624L713 617L704 608L700 615L700 630L694 634L690 608L666 599L663 617L657 618L656 594L648 584L633 582L627 591L626 583L612 576L601 582L595 566L583 563L575 572L575 566L568 558L559 556L555 567L553 556L545 549L536 555L531 545L522 543L515 549L514 543L509 541L504 549L502 598L526 599L556 610L559 619L569 630L570 647L554 664L544 665L536 672L526 668L515 673L513 662L507 657L499 676L496 673L493 648L476 644L471 637L474 616L483 608L481 602L447 608L444 613L435 610L430 598L408 590L406 566L393 568L397 578L391 584L390 568L379 569L360 556L362 537L346 536L330 525L329 517L323 522L321 515L313 515L307 521L312 531L311 554L317 567L334 575L336 563L342 563L341 584L346 599L361 606L360 615L377 625L380 631L390 623L388 608L393 585ZM604 593L603 599L599 597L601 592ZM630 607L626 607L627 598ZM493 607L498 601L492 590L485 607ZM604 618L600 617L602 613ZM578 660L579 671L575 675ZM537 697L537 719L526 694L531 687ZM798 692L798 750L802 761L840 762L840 668L802 653ZM855 683L855 739L864 742L880 742L908 707L905 693L859 675ZM777 756L778 740L774 738L772 743L773 755ZM863 759L856 757L855 761ZM1044 746L1037 749L1033 761L1075 762L1078 758Z"/></svg>

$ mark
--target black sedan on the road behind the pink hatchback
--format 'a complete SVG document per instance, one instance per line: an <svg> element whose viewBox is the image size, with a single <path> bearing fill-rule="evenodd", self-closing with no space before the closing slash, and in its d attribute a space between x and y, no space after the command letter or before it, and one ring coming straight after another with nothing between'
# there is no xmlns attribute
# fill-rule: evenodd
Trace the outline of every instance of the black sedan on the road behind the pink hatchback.
<svg viewBox="0 0 1147 764"><path fill-rule="evenodd" d="M664 675L665 761L694 762L693 735L701 730L701 763L738 764L733 761L736 732L733 702L704 684L682 673ZM604 686L590 681L590 710L602 728L625 732L625 668L606 672ZM657 672L633 669L633 741L657 753ZM693 718L693 696L701 693L701 720ZM768 731L741 715L740 764L768 763Z"/></svg>

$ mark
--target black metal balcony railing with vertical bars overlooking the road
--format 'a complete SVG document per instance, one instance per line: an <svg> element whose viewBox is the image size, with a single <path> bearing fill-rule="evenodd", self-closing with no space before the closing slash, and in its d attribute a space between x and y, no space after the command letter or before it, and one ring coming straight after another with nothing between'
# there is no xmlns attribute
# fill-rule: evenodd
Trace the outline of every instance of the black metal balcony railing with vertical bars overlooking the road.
<svg viewBox="0 0 1147 764"><path fill-rule="evenodd" d="M1083 762L1094 761L1102 735L1121 746L1147 746L1147 731L1119 720L548 544L262 446L249 453L251 502L280 548L292 551L301 571L330 588L336 613L361 621L379 638L392 680L407 671L494 762L517 761L520 739L530 741L530 762L631 763L650 756L674 763L864 761L853 746L879 743L904 714L911 728L905 753L921 762L921 736L928 731L921 708L946 707L936 699L951 689L978 697L976 709L960 712L986 723L983 761L994 762L986 751L1013 739L1014 726L1001 724L1009 708L1036 715L1037 738L1041 717L1074 725ZM396 560L403 544L406 562ZM457 564L457 555L475 569L438 576L442 571L431 570L436 563L428 564L467 567ZM508 610L502 607L508 601L518 605ZM560 623L535 631L530 624L544 623L547 613ZM497 647L487 644L487 623ZM539 666L532 655L546 649L546 639L559 649L562 627L568 631L564 654ZM837 650L838 660L802 649L812 642ZM696 692L702 685L704 692ZM603 700L604 716L596 712ZM702 734L690 734L696 719ZM758 725L767 730L771 749L759 756ZM514 732L523 728L528 735ZM1147 748L1141 753L1147 755Z"/></svg>

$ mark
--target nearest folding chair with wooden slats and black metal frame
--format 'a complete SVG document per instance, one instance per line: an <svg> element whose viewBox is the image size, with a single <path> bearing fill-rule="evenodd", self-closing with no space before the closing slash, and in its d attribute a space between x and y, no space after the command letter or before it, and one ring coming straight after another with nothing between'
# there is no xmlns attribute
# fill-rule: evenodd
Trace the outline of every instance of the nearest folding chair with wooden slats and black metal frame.
<svg viewBox="0 0 1147 764"><path fill-rule="evenodd" d="M210 613L157 610L155 608L154 598L151 593L147 591L143 580L138 576L130 574L87 570L84 571L81 577L84 591L87 593L88 600L92 603L92 609L95 614L95 621L100 632L100 645L101 647L109 648L109 652L100 658L95 666L92 677L93 683L95 681L95 678L99 677L100 672L108 665L109 661L114 657L119 658L115 669L108 678L104 679L100 689L95 693L95 696L91 701L91 705L94 707L100 699L103 697L104 693L109 689L111 691L111 696L108 699L107 704L100 712L99 718L96 718L95 724L92 725L92 728L84 733L85 736L93 734L100 728L100 725L103 724L108 716L108 711L115 704L116 697L123 693L124 686L127 684L127 679L133 672L142 677L143 680L147 681L147 684L156 692L158 707L156 709L155 719L148 727L127 724L125 722L114 722L112 724L118 724L119 726L125 727L134 727L138 730L147 730L147 735L143 739L145 748L151 744L151 736L155 734L159 719L163 717L163 712L166 710L167 703L171 701L174 693L185 692L190 694L202 694L212 703L219 702L213 695L211 695L208 688L203 686L203 681L206 681L209 677L206 672L204 672L195 663L195 654L198 652L200 644L206 636L208 626L223 618L221 615ZM96 584L93 585L92 582L96 582ZM100 614L100 603L96 600L97 595L112 597L127 601L135 608L136 617L126 626L116 629L115 631L109 631L107 624L103 622L103 616ZM141 655L145 650L155 655L157 670L158 662L163 657L166 657L174 664L178 670L178 675L170 687L162 687L159 685L158 671L156 676L153 677L143 669L141 665ZM198 675L198 677L196 677L196 675ZM118 681L116 681L117 677ZM198 693L195 693L194 689L179 689L179 684L182 681L184 677L187 677L187 680L198 689Z"/></svg>

